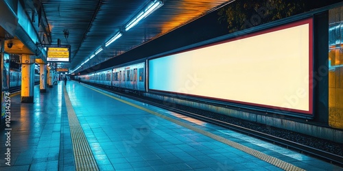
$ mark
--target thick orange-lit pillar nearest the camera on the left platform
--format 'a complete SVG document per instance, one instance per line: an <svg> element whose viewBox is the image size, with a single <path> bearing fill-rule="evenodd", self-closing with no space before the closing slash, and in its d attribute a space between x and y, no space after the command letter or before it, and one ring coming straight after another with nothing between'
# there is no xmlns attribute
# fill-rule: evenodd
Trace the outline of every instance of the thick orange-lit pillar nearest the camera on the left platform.
<svg viewBox="0 0 343 171"><path fill-rule="evenodd" d="M34 103L34 55L21 55L21 102Z"/></svg>

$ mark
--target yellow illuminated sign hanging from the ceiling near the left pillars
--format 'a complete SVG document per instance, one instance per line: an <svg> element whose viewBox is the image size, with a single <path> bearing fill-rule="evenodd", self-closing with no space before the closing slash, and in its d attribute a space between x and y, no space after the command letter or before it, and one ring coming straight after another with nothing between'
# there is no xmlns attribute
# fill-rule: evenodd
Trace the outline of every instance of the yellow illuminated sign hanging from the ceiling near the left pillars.
<svg viewBox="0 0 343 171"><path fill-rule="evenodd" d="M70 53L67 47L48 47L47 62L69 62Z"/></svg>

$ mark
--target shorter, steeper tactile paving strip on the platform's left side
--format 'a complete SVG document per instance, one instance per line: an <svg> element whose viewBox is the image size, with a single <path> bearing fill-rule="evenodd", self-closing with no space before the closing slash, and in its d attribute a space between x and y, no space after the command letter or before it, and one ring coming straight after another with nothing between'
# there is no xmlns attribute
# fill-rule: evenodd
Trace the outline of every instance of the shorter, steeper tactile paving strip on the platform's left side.
<svg viewBox="0 0 343 171"><path fill-rule="evenodd" d="M73 143L73 154L76 170L99 170L89 146L84 131L75 114L67 89L63 86L64 99L67 106L69 127L71 132L71 142Z"/></svg>

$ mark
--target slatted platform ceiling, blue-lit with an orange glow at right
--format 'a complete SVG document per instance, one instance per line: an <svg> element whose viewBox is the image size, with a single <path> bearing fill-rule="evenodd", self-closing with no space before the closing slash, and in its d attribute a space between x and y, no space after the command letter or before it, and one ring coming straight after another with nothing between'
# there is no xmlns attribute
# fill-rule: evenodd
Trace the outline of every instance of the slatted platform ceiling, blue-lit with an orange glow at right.
<svg viewBox="0 0 343 171"><path fill-rule="evenodd" d="M227 3L225 0L165 0L161 8L132 29L125 31L123 27L126 23L150 1L43 0L42 2L51 29L51 44L57 44L59 38L61 44L71 45L70 70L84 62L100 46L104 47L104 43L119 30L123 31L123 36L106 47L103 52L106 55L102 55L104 60L137 47ZM64 37L65 29L69 31L68 38ZM92 66L97 62L91 60L87 64Z"/></svg>

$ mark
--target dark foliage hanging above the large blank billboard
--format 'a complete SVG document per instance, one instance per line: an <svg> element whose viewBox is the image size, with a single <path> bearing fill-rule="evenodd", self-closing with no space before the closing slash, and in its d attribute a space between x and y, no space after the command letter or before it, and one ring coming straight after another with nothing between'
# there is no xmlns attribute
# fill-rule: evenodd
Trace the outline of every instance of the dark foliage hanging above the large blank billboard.
<svg viewBox="0 0 343 171"><path fill-rule="evenodd" d="M218 21L228 23L228 31L233 33L306 12L311 9L309 3L307 0L236 0L218 11Z"/></svg>

